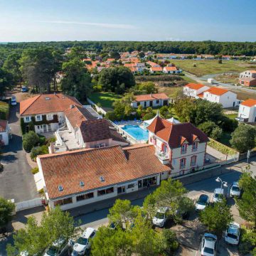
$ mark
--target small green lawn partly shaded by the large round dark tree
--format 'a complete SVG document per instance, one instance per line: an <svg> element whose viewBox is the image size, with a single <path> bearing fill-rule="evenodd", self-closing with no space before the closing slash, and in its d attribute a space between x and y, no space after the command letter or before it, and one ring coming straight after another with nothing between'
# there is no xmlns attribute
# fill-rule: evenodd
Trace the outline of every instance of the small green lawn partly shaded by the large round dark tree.
<svg viewBox="0 0 256 256"><path fill-rule="evenodd" d="M122 98L122 95L116 95L113 92L93 92L89 99L100 103L101 107L112 107L112 104Z"/></svg>

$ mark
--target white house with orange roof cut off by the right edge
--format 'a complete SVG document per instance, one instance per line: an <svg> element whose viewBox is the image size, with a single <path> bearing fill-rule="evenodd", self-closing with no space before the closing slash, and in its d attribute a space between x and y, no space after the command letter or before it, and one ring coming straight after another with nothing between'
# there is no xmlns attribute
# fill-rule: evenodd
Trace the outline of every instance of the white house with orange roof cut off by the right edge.
<svg viewBox="0 0 256 256"><path fill-rule="evenodd" d="M256 122L256 100L248 99L242 102L236 119L239 122Z"/></svg>

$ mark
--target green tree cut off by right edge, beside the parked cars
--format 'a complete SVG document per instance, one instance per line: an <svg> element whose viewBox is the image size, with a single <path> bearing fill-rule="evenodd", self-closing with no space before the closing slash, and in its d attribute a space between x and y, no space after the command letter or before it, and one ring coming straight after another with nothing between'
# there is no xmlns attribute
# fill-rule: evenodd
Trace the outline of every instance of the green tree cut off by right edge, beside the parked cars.
<svg viewBox="0 0 256 256"><path fill-rule="evenodd" d="M252 176L250 167L242 172L239 180L242 197L236 198L238 210L242 218L253 223L256 229L256 177Z"/></svg>

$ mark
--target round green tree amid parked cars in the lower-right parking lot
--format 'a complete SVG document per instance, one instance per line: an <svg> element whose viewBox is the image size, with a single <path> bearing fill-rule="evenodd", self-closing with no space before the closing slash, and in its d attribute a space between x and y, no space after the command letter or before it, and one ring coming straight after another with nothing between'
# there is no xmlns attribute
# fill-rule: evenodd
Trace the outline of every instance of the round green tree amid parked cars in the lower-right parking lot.
<svg viewBox="0 0 256 256"><path fill-rule="evenodd" d="M230 222L233 221L233 215L230 211L230 206L227 205L225 198L207 206L205 210L200 213L201 222L206 225L210 232L221 236Z"/></svg>

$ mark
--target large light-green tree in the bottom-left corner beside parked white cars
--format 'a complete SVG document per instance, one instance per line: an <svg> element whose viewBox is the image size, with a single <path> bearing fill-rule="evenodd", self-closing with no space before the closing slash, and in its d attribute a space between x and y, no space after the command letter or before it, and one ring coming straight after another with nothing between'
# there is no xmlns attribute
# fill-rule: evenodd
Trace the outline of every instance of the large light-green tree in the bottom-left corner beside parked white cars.
<svg viewBox="0 0 256 256"><path fill-rule="evenodd" d="M73 217L70 213L56 207L48 214L43 213L40 225L35 217L28 217L25 228L21 228L14 234L14 245L8 245L7 253L26 251L28 255L36 255L43 252L55 240L64 238L68 240L78 235L79 228L75 228Z"/></svg>

